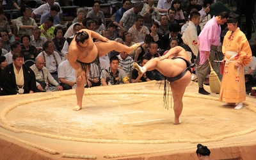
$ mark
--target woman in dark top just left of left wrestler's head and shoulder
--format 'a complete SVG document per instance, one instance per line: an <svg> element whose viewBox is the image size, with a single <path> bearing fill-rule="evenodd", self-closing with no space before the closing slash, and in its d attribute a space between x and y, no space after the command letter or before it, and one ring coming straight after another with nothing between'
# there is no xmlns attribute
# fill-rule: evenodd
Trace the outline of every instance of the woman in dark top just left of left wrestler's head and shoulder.
<svg viewBox="0 0 256 160"><path fill-rule="evenodd" d="M52 42L54 43L56 49L58 52L61 53L61 50L63 49L63 45L65 43L66 38L63 37L63 28L61 28L60 26L57 26L54 29L54 37L52 38Z"/></svg>

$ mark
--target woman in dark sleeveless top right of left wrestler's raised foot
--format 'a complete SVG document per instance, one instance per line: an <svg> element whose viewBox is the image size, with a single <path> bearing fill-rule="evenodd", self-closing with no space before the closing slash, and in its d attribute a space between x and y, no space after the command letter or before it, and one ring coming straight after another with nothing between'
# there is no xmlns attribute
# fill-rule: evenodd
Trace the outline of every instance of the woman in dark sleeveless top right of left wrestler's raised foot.
<svg viewBox="0 0 256 160"><path fill-rule="evenodd" d="M141 58L143 57L143 55L148 52L148 47L150 42L154 42L154 38L151 35L146 35L145 36L145 40L144 40L144 44L141 45L140 47L138 47L136 54L134 56L134 61L138 62L141 60Z"/></svg>

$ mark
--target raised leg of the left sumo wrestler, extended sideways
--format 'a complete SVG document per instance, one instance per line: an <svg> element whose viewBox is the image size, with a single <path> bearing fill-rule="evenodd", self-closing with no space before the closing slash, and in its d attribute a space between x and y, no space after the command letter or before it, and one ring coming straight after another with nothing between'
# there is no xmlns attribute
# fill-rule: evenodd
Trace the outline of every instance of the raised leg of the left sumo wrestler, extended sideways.
<svg viewBox="0 0 256 160"><path fill-rule="evenodd" d="M109 40L108 42L95 42L95 45L98 48L99 57L101 57L113 50L117 52L127 52L130 54L132 51L134 51L134 49L140 47L141 44L137 43L132 45L131 47L128 47L127 45L120 44L113 40Z"/></svg>

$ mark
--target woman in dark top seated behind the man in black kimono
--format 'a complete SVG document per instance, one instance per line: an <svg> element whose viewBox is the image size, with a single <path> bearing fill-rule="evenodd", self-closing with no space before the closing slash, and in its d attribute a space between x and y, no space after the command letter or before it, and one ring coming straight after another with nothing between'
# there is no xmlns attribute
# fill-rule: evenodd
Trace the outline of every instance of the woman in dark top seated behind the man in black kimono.
<svg viewBox="0 0 256 160"><path fill-rule="evenodd" d="M29 67L34 64L35 58L38 55L36 47L33 45L30 45L30 40L31 40L30 36L27 34L20 36L20 44L23 44L21 45L21 53L24 56L24 63L26 65L29 65ZM33 60L34 62L28 61L28 60ZM26 63L26 61L28 62Z"/></svg>

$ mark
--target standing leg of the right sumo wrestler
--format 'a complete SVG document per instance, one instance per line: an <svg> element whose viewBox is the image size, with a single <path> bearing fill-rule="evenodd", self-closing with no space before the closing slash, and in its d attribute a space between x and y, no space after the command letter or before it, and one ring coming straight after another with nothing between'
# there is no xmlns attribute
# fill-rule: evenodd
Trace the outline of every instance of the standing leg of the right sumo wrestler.
<svg viewBox="0 0 256 160"><path fill-rule="evenodd" d="M172 88L172 97L173 97L173 110L174 110L174 121L173 124L180 124L180 115L183 109L182 98L186 87L191 81L191 73L187 71L187 73L177 81L173 81L170 86Z"/></svg>

